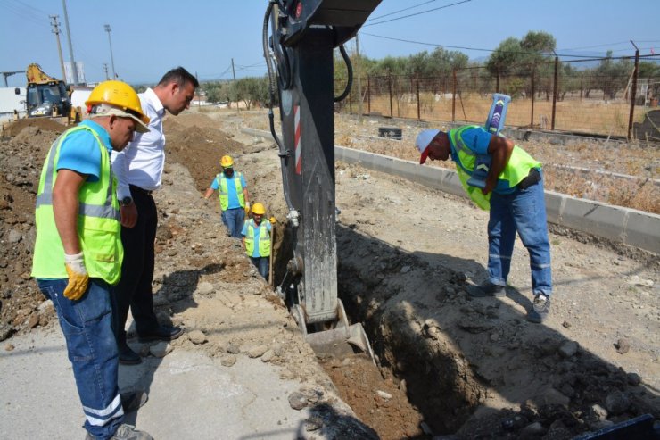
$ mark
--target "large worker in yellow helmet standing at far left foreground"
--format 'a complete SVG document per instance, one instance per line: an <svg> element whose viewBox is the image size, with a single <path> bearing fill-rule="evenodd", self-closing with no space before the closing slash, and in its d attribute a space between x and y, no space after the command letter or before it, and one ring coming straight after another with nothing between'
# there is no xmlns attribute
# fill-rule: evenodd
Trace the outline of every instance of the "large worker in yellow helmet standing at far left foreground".
<svg viewBox="0 0 660 440"><path fill-rule="evenodd" d="M99 84L86 104L90 119L55 140L41 171L32 277L57 311L87 439L151 439L124 424L111 320L124 251L110 157L148 131L149 118L120 81Z"/></svg>

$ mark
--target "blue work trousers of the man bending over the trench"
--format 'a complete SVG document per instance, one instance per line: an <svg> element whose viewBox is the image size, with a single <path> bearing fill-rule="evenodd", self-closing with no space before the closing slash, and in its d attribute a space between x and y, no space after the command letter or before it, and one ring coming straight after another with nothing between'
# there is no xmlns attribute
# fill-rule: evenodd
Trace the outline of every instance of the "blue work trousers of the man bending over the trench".
<svg viewBox="0 0 660 440"><path fill-rule="evenodd" d="M552 293L550 244L542 178L531 187L516 189L512 194L491 195L491 218L488 221L488 274L491 283L495 285L507 285L516 231L530 254L533 295L550 295Z"/></svg>

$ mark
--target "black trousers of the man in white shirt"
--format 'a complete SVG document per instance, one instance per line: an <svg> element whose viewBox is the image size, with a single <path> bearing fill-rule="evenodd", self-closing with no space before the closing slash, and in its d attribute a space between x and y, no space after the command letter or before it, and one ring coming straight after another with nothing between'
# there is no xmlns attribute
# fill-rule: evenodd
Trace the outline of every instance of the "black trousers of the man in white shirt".
<svg viewBox="0 0 660 440"><path fill-rule="evenodd" d="M149 333L158 327L152 292L158 211L150 192L132 185L130 190L133 203L136 203L137 223L134 228L121 228L124 261L120 282L112 289L112 314L118 345L126 344L128 307L136 320L138 334Z"/></svg>

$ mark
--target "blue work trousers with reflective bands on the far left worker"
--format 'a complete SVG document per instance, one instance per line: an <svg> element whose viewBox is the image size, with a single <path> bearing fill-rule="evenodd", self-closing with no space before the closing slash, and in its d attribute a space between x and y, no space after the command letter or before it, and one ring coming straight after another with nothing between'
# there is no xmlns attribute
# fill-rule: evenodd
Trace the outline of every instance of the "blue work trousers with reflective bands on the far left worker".
<svg viewBox="0 0 660 440"><path fill-rule="evenodd" d="M110 286L102 279L90 278L85 295L71 301L63 295L68 283L67 278L37 279L39 290L53 301L57 311L85 412L84 428L94 438L107 439L124 422Z"/></svg>

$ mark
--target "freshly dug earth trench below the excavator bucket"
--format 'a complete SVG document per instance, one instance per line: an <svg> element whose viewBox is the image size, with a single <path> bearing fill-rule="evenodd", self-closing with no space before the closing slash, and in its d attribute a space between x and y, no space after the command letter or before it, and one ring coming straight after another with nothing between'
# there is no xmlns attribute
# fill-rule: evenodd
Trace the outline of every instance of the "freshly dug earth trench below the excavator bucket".
<svg viewBox="0 0 660 440"><path fill-rule="evenodd" d="M284 228L282 228L284 229ZM278 230L275 282L291 254ZM349 322L361 323L375 353L317 354L342 400L382 439L455 433L483 402L485 391L449 336L429 325L425 308L405 299L402 264L428 263L351 227L337 225L338 292ZM433 283L462 285L451 270L433 268ZM418 309L418 310L417 310Z"/></svg>

